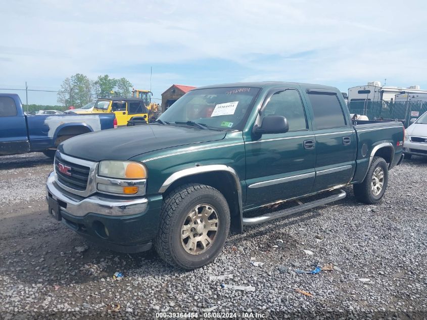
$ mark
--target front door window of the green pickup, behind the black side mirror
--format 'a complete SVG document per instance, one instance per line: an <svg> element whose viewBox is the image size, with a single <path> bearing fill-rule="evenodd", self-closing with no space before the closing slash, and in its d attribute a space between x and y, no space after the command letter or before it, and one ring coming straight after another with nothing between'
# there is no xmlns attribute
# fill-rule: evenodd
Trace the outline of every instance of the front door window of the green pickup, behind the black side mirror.
<svg viewBox="0 0 427 320"><path fill-rule="evenodd" d="M289 131L302 131L308 128L300 94L294 89L278 91L272 95L262 111L262 118L266 116L286 117Z"/></svg>

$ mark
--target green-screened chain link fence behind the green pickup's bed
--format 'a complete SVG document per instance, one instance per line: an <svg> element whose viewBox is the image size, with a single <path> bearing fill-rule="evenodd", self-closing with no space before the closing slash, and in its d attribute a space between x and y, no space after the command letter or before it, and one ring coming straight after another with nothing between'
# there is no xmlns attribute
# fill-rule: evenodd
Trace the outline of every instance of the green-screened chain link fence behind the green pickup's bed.
<svg viewBox="0 0 427 320"><path fill-rule="evenodd" d="M369 120L399 120L405 128L411 119L418 118L427 111L427 101L352 101L350 113L365 115Z"/></svg>

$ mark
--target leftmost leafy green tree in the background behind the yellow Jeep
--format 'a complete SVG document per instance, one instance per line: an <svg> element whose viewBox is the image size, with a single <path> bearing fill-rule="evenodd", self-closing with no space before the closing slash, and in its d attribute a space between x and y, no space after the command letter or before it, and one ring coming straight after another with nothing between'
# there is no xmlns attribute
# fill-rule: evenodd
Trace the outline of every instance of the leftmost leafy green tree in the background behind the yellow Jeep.
<svg viewBox="0 0 427 320"><path fill-rule="evenodd" d="M81 73L65 78L58 93L58 102L64 106L80 108L92 99L92 83Z"/></svg>

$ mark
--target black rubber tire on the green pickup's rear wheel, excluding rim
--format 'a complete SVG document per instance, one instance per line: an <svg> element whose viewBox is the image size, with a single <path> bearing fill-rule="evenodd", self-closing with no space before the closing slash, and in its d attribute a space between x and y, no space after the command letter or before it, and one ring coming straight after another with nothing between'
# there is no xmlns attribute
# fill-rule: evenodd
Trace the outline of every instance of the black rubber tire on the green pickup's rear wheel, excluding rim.
<svg viewBox="0 0 427 320"><path fill-rule="evenodd" d="M375 195L372 191L372 176L377 168L381 168L384 172L384 182L381 191ZM389 181L389 166L381 157L373 157L372 163L368 169L365 179L360 184L353 185L353 192L357 200L367 204L375 204L384 196Z"/></svg>

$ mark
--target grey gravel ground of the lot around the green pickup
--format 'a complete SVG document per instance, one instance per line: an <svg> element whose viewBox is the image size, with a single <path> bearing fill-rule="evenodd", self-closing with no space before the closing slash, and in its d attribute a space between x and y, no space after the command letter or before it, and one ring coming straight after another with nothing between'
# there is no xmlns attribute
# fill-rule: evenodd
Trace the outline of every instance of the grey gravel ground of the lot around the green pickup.
<svg viewBox="0 0 427 320"><path fill-rule="evenodd" d="M159 311L203 317L212 309L278 319L425 319L426 166L414 157L392 170L376 206L357 203L346 188L348 197L340 202L246 227L228 238L212 264L184 272L153 251L126 255L85 242L48 216L44 182L52 160L42 154L2 157L0 319L136 319ZM251 258L264 264L254 266ZM335 270L293 271L327 263ZM116 271L123 278L114 279ZM210 278L227 275L232 279Z"/></svg>

